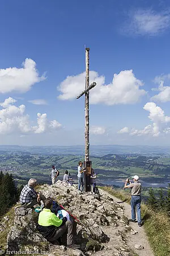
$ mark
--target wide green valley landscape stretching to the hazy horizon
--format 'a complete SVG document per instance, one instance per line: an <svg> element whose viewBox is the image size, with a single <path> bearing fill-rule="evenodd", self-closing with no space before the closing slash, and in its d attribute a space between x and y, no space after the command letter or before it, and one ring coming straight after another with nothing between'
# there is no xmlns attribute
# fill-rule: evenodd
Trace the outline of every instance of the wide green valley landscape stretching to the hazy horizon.
<svg viewBox="0 0 170 256"><path fill-rule="evenodd" d="M83 146L1 146L0 150L0 170L11 173L18 185L30 177L49 184L52 164L59 170L60 180L68 170L76 182L78 162L84 160ZM122 188L126 177L138 174L143 187L166 188L170 181L169 152L169 147L91 146L97 184Z"/></svg>

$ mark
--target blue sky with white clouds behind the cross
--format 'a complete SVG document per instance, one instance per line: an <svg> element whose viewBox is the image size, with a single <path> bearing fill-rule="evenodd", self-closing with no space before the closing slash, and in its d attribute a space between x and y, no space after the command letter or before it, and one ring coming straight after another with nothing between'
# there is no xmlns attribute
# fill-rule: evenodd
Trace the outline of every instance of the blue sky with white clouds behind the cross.
<svg viewBox="0 0 170 256"><path fill-rule="evenodd" d="M86 44L91 144L168 145L168 1L1 0L0 22L1 144L84 143Z"/></svg>

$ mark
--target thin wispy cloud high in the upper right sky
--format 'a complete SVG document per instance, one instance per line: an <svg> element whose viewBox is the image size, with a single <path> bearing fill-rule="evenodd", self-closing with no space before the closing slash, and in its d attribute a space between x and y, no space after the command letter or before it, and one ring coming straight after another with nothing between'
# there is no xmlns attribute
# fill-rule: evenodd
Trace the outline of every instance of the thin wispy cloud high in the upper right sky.
<svg viewBox="0 0 170 256"><path fill-rule="evenodd" d="M130 20L125 24L124 33L156 36L170 26L168 11L156 12L151 9L139 9L130 13Z"/></svg>

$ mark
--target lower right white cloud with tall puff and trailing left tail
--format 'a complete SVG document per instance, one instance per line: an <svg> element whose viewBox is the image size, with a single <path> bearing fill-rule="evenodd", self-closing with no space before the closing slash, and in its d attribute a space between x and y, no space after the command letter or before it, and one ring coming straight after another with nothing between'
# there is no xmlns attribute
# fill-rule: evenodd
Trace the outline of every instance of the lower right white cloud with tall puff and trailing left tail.
<svg viewBox="0 0 170 256"><path fill-rule="evenodd" d="M121 130L124 131L124 129L129 133L131 136L134 135L152 135L153 137L158 137L160 134L167 134L170 131L170 117L165 115L164 110L160 108L159 106L156 106L154 102L147 102L145 106L143 107L146 111L148 111L150 114L148 115L148 118L152 122L152 125L147 125L144 127L144 129L138 130L138 129L128 129L128 127L125 127ZM121 131L120 130L120 131ZM118 131L118 133L120 133Z"/></svg>

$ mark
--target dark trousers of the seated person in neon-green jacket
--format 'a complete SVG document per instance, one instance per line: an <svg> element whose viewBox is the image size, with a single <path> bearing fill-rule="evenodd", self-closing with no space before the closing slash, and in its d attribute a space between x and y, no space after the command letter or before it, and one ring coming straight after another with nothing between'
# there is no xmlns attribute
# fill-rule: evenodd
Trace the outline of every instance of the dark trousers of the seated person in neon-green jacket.
<svg viewBox="0 0 170 256"><path fill-rule="evenodd" d="M56 233L53 235L53 237L50 237L48 239L48 241L55 242L64 233L67 234L67 245L72 245L72 243L73 243L73 224L71 221L66 221L66 223L64 225L59 226L56 229Z"/></svg>

